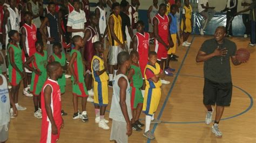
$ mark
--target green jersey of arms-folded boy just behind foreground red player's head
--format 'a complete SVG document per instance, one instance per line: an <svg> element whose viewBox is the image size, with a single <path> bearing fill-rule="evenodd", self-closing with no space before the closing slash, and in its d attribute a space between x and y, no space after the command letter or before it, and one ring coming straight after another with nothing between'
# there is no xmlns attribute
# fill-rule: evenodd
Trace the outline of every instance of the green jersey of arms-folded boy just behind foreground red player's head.
<svg viewBox="0 0 256 143"><path fill-rule="evenodd" d="M60 57L58 55L54 54L54 53L52 54L52 56L53 56L54 61L57 61L57 62L60 63L60 66L63 67L63 66L66 65L66 56L63 52L61 53ZM65 86L66 85L65 74L62 75L62 78L58 79L58 84L59 84L59 86Z"/></svg>

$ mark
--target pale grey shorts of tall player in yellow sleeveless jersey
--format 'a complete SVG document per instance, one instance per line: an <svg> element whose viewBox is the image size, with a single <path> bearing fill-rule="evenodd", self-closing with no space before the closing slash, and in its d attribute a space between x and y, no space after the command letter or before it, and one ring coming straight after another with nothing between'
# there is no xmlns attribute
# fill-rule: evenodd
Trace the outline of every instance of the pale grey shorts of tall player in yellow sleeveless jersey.
<svg viewBox="0 0 256 143"><path fill-rule="evenodd" d="M117 55L125 51L120 46L109 46L109 65L117 65Z"/></svg>

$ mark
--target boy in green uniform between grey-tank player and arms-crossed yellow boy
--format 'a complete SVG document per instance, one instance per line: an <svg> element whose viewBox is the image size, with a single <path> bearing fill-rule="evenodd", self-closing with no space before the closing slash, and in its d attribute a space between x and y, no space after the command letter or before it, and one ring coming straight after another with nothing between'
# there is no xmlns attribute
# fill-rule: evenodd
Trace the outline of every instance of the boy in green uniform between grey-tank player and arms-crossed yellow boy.
<svg viewBox="0 0 256 143"><path fill-rule="evenodd" d="M142 131L144 124L139 122L139 116L143 107L143 96L140 90L143 85L142 71L139 67L139 53L137 51L131 51L131 68L127 75L130 80L131 87L131 108L132 108L132 129L135 131Z"/></svg>

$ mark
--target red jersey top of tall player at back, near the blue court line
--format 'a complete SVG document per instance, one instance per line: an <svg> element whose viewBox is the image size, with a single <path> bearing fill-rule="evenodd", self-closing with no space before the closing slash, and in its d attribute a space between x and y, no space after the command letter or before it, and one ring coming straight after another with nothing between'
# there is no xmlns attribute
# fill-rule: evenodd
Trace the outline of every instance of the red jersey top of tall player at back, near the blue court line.
<svg viewBox="0 0 256 143"><path fill-rule="evenodd" d="M158 34L161 39L164 40L165 44L169 45L168 34L169 34L169 18L167 15L161 17L159 13L154 17L158 20ZM156 41L156 39L155 39ZM161 45L159 43L159 45Z"/></svg>

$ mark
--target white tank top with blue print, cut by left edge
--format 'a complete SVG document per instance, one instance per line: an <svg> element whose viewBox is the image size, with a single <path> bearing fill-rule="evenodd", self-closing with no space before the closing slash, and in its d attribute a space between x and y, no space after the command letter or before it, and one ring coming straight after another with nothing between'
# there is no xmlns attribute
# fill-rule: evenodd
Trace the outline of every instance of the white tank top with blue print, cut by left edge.
<svg viewBox="0 0 256 143"><path fill-rule="evenodd" d="M3 78L3 84L0 85L0 126L3 126L10 121L10 99L6 78L2 74L0 76Z"/></svg>

